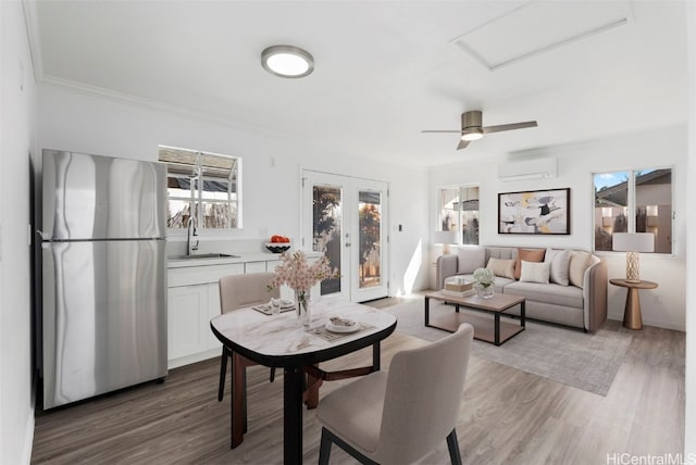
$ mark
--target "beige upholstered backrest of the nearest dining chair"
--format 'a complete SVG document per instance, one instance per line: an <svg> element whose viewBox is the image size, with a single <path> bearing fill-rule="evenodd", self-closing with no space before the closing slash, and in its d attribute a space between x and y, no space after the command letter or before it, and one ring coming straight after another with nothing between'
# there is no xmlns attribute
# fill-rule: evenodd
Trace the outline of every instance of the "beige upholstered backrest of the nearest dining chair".
<svg viewBox="0 0 696 465"><path fill-rule="evenodd" d="M457 425L473 327L418 349L389 364L376 455L381 463L410 463L442 445Z"/></svg>

